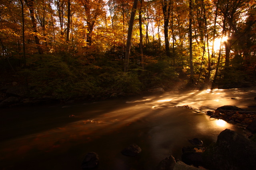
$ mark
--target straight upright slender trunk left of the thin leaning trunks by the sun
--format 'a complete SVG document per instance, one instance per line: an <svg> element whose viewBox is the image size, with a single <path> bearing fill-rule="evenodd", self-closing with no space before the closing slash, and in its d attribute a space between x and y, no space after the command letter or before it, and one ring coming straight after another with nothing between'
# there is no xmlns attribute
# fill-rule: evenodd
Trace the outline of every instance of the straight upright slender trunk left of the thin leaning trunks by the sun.
<svg viewBox="0 0 256 170"><path fill-rule="evenodd" d="M189 60L190 60L190 77L194 75L193 53L192 53L192 0L189 0Z"/></svg>

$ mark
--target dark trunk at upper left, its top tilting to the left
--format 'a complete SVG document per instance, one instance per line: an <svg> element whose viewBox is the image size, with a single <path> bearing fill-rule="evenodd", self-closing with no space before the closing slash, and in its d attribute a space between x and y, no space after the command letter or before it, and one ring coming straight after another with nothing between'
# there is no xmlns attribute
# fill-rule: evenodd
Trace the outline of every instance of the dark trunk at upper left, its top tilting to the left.
<svg viewBox="0 0 256 170"><path fill-rule="evenodd" d="M35 33L34 38L35 38L35 41L36 41L36 46L37 46L38 53L43 54L44 51L40 47L40 40L39 40L38 36L36 35L38 32L37 32L37 28L36 28L36 17L35 17L35 12L34 12L34 0L25 0L25 2L26 2L26 5L29 8L30 18L31 18L31 21L32 21L33 31Z"/></svg>

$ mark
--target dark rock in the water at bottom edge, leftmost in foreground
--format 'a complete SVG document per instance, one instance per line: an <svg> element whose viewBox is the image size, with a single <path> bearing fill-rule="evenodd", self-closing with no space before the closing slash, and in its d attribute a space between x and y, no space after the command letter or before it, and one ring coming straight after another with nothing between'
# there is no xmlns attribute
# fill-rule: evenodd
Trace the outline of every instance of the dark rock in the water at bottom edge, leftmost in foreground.
<svg viewBox="0 0 256 170"><path fill-rule="evenodd" d="M98 154L96 154L95 152L88 152L82 162L82 168L84 170L94 168L95 166L97 166L98 161Z"/></svg>

